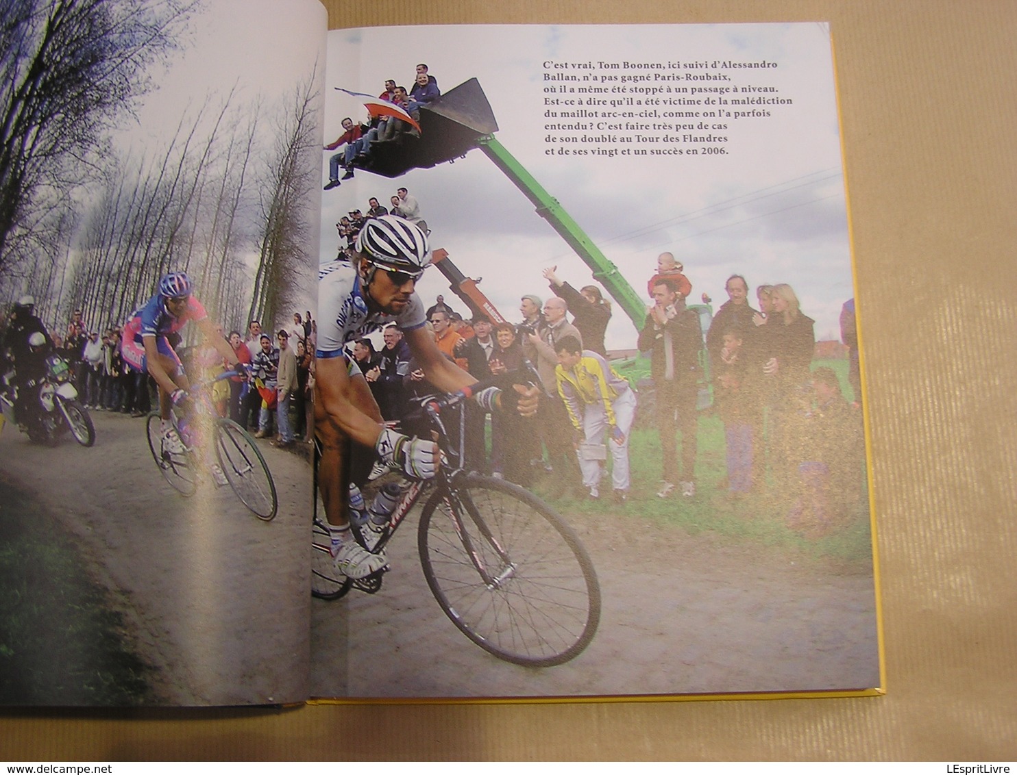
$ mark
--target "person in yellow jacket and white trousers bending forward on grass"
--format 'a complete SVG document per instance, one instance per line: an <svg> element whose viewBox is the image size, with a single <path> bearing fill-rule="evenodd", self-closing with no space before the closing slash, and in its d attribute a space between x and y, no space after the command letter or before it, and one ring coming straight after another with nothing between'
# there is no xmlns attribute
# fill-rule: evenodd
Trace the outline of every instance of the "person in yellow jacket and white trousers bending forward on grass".
<svg viewBox="0 0 1017 775"><path fill-rule="evenodd" d="M602 463L593 447L602 445L606 434L613 462L614 500L624 503L629 497L629 432L636 417L636 391L603 356L583 349L575 336L562 336L554 349L558 359L554 379L577 431L583 486L590 498L600 498Z"/></svg>

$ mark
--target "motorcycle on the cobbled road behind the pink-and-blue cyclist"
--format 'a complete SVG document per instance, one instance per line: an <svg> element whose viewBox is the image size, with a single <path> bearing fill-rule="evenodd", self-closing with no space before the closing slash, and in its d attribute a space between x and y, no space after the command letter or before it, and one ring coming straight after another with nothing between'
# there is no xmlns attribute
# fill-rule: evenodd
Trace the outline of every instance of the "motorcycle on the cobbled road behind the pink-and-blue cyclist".
<svg viewBox="0 0 1017 775"><path fill-rule="evenodd" d="M4 375L4 390L0 391L0 409L4 417L17 425L37 444L54 446L65 431L70 431L82 447L96 443L96 427L88 410L77 400L77 389L71 383L70 366L58 354L46 359L44 375L28 386L14 386L13 373ZM36 389L37 401L27 417L16 416L14 406L18 390Z"/></svg>

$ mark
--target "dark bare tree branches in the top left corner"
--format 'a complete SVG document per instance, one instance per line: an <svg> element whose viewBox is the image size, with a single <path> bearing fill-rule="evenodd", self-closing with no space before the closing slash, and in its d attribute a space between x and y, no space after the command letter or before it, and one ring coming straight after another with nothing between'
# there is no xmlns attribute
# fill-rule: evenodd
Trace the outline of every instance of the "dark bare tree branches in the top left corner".
<svg viewBox="0 0 1017 775"><path fill-rule="evenodd" d="M0 0L0 275L151 83L192 0ZM47 194L50 198L47 199Z"/></svg>

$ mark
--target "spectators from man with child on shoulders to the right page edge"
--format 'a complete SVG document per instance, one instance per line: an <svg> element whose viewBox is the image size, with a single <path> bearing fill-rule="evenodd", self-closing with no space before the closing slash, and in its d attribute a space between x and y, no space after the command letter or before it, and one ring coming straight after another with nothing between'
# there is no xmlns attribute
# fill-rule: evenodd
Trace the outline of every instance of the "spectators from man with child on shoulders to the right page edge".
<svg viewBox="0 0 1017 775"><path fill-rule="evenodd" d="M667 264L671 257L661 258ZM696 414L697 384L702 386L702 367L708 365L714 406L724 428L727 497L741 501L766 495L769 502L787 510L790 526L814 536L849 519L862 491L864 466L857 371L849 366L854 396L849 403L832 370L813 370L815 321L801 311L791 285L757 286L756 309L750 303L746 279L740 274L728 277L727 301L712 318L705 336L707 358L700 364L695 352L702 341L699 319L684 303L691 285L680 293L680 280L668 278L663 268L653 281L655 305L640 336L640 348L649 346L651 337L657 347L652 360L664 461L658 496L666 498L675 490L675 476L683 495L695 495L696 426L695 421L681 424L682 416ZM679 330L682 323L684 333ZM850 364L857 351L853 300L844 305L841 324ZM673 387L667 374L661 374L668 368L663 341L668 332L672 344L678 342L670 347L669 363L687 363L695 373L681 370ZM665 396L672 391L663 402L662 388ZM677 418L681 437L680 469L671 453L672 417ZM750 505L758 502L754 499Z"/></svg>

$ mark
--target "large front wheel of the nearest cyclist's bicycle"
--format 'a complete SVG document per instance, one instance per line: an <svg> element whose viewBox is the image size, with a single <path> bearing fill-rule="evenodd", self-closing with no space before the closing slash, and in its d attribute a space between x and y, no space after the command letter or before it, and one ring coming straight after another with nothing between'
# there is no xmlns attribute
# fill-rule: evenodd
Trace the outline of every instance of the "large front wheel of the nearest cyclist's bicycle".
<svg viewBox="0 0 1017 775"><path fill-rule="evenodd" d="M465 475L424 506L417 535L441 609L481 648L516 664L561 664L593 640L593 563L547 504L500 479Z"/></svg>

